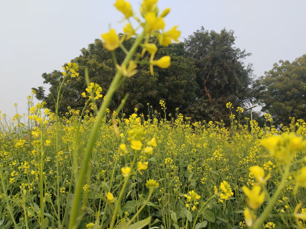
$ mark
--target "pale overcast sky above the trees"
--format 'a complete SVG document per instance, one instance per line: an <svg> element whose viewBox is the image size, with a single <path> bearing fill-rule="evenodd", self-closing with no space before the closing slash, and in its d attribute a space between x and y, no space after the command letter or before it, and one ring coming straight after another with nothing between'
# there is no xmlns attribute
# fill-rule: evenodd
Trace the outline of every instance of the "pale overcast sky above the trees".
<svg viewBox="0 0 306 229"><path fill-rule="evenodd" d="M140 0L130 1L138 11ZM26 112L31 87L41 74L60 70L109 27L122 31L114 0L0 0L0 111ZM234 30L235 46L252 53L260 76L278 60L306 53L306 0L159 0L170 7L166 28L178 25L180 40L202 25Z"/></svg>

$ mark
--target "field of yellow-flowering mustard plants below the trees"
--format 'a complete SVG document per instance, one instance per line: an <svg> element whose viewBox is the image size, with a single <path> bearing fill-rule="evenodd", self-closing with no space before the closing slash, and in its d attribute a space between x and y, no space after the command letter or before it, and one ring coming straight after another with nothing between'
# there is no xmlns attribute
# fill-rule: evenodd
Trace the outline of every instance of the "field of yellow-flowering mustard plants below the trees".
<svg viewBox="0 0 306 229"><path fill-rule="evenodd" d="M179 113L165 120L157 111L108 111L86 165L77 227L305 227L306 123L292 118L276 130L266 114L260 128L227 107L230 127ZM68 227L96 119L83 114L70 109L56 124L38 103L26 121L1 116L0 228Z"/></svg>

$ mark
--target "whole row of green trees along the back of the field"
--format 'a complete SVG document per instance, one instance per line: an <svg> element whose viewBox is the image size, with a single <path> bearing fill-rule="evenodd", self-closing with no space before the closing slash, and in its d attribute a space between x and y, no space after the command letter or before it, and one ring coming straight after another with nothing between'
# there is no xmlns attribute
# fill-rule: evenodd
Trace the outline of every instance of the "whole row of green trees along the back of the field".
<svg viewBox="0 0 306 229"><path fill-rule="evenodd" d="M134 39L123 42L129 49ZM263 111L273 115L279 122L286 123L289 116L305 120L305 77L306 55L296 59L292 64L280 61L265 76L255 79L251 64L245 65L245 50L234 46L235 37L232 30L222 29L219 33L208 31L203 27L193 32L184 42L159 46L154 37L158 51L155 59L164 55L171 57L171 65L167 69L154 68L154 76L150 75L149 66L142 64L137 73L128 78L113 96L110 110L115 110L126 93L128 99L123 107L127 115L138 109L138 113L147 114L147 104L159 109L159 101L164 100L167 113L179 113L193 120L228 120L225 104L230 101L235 107L245 107L259 102ZM88 48L82 48L81 54L71 62L79 65L79 77L64 85L59 112L64 114L67 107L82 109L86 83L84 69L88 68L89 80L106 90L114 76L115 64L111 53L103 47L103 42L96 39ZM140 49L137 50L140 52ZM124 58L124 52L115 50L118 63ZM149 55L144 60L149 60ZM43 84L49 84L49 92L43 86L36 90L36 98L46 102L47 108L54 111L54 99L57 87L62 79L61 71L43 73ZM99 106L102 100L97 105Z"/></svg>

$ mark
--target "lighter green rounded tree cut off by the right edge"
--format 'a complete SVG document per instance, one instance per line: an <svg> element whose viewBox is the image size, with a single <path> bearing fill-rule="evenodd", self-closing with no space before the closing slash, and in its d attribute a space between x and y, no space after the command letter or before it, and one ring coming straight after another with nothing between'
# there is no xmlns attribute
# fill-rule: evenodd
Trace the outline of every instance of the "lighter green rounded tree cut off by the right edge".
<svg viewBox="0 0 306 229"><path fill-rule="evenodd" d="M257 100L276 124L288 124L289 117L306 120L306 55L291 63L279 60L256 82Z"/></svg>

